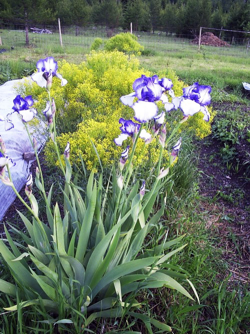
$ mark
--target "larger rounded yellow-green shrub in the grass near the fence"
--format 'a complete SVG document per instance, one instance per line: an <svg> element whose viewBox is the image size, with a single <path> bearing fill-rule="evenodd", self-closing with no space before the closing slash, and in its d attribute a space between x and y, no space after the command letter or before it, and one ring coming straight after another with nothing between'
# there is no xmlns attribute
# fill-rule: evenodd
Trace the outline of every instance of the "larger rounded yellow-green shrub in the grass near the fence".
<svg viewBox="0 0 250 334"><path fill-rule="evenodd" d="M129 32L121 32L105 42L104 50L118 50L127 54L140 55L143 46L137 42L137 37Z"/></svg>

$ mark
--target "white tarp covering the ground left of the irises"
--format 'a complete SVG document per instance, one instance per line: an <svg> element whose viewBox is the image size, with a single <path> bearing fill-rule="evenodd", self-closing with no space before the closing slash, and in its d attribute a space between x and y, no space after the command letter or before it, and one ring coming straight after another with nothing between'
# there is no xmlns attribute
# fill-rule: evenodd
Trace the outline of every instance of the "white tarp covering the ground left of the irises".
<svg viewBox="0 0 250 334"><path fill-rule="evenodd" d="M13 111L13 99L16 96L14 87L18 83L24 82L24 80L27 82L27 78L10 80L0 86L0 115L2 117L5 117L8 113ZM30 81L32 81L31 78ZM33 149L25 127L17 112L12 114L11 118L14 127L8 131L5 131L4 129L4 121L0 121L0 135L6 146L6 155L15 162L15 166L10 168L10 172L15 188L19 191L26 182L29 168L32 163L31 160L24 160L23 153L33 152ZM44 143L44 138L41 139L40 135L37 136L40 138L37 139L36 137L39 148ZM14 199L15 193L12 188L4 185L0 181L0 220L3 218Z"/></svg>

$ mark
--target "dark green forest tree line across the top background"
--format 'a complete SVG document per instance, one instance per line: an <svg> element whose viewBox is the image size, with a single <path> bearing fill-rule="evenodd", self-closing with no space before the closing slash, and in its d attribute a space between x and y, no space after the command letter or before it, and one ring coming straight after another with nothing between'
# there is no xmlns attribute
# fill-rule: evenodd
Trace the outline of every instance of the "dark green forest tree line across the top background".
<svg viewBox="0 0 250 334"><path fill-rule="evenodd" d="M0 0L0 23L102 25L198 33L200 26L250 31L248 0ZM242 36L242 35L241 35Z"/></svg>

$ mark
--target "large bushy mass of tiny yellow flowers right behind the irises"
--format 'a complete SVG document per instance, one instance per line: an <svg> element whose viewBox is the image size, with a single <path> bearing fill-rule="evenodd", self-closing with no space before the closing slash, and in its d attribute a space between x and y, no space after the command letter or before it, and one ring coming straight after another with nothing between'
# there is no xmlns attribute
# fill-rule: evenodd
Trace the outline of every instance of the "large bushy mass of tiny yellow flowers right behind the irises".
<svg viewBox="0 0 250 334"><path fill-rule="evenodd" d="M119 153L113 142L119 134L117 119L120 117L133 117L133 110L120 103L120 96L131 92L133 81L141 74L152 75L149 71L140 67L139 61L130 58L119 51L92 52L87 55L86 61L79 65L62 61L59 64L60 72L68 80L68 85L61 88L59 83L51 87L51 94L56 99L56 105L60 112L57 116L57 129L59 135L57 142L60 149L70 142L70 160L78 167L82 157L87 169L98 162L95 150L89 145L89 139L95 145L101 163L109 167L118 158ZM179 81L175 73L167 69L157 73L159 77L166 76L173 82L175 96L182 94L184 84ZM39 86L26 84L18 89L23 95L32 95L37 110L43 110L46 103L46 92ZM169 101L171 96L168 95ZM156 102L159 111L164 110L161 101ZM166 114L167 132L175 126L180 111L171 111ZM195 113L184 122L178 132L183 129L192 131L199 138L207 136L211 131L213 112L208 122L202 120L201 112ZM150 130L149 130L150 131ZM49 165L53 165L56 159L50 140L45 147L45 156ZM138 139L134 154L134 164L150 165L158 161L159 147L156 139L146 145L142 151L143 139ZM150 156L150 159L149 159ZM169 152L163 153L163 163L167 164ZM57 161L58 164L58 161Z"/></svg>

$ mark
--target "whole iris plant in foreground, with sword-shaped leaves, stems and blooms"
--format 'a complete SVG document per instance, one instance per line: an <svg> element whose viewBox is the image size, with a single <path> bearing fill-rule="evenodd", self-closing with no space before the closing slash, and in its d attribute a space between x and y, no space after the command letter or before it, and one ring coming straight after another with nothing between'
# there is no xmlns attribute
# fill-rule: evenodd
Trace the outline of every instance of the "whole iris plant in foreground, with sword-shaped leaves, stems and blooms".
<svg viewBox="0 0 250 334"><path fill-rule="evenodd" d="M72 175L70 143L67 142L64 148L64 161L57 145L56 119L60 117L60 108L54 97L59 88L52 89L56 85L52 78L57 76L60 79L63 95L63 86L70 90L70 82L67 82L70 77L65 79L57 72L57 62L52 57L40 59L36 66L37 72L32 74L32 79L47 94L43 114L64 179L64 186L61 186L64 199L53 205L53 185L50 189L45 188L37 142L30 135L27 124L37 114L34 100L31 95L24 98L17 95L12 112L20 115L36 156L35 184L43 198L46 216L40 217L42 204L32 193L31 173L25 186L29 204L16 191L11 178L15 162L6 155L7 142L5 145L0 137L0 179L12 188L31 215L27 217L19 213L26 227L25 233L12 226L12 230L21 237L21 242L14 242L6 228L8 246L0 240L5 270L9 270L13 278L12 282L0 279L0 290L9 296L9 305L5 309L17 310L18 318L22 317L23 309L27 307L35 310L36 314L43 314L40 325L45 330L50 324L56 324L59 329L70 333L91 332L89 325L96 318L124 318L129 315L142 320L149 332L152 332L151 325L164 332L171 331L166 323L140 313L143 301L137 300L136 295L140 290L164 286L193 299L183 287L189 284L187 286L198 299L188 275L183 273L185 270L169 264L169 258L186 244L173 247L183 236L167 240L167 234L158 238L155 244L143 242L157 227L164 213L165 196L162 190L170 182L168 172L174 168L173 163L181 149L178 130L199 111L202 111L204 120L209 120L207 104L210 103L211 87L195 82L183 88L182 95L175 97L171 79L144 74L137 77L132 84L134 91L130 92L130 88L127 94L120 96L120 103L134 111L137 122L122 117L116 119L116 123L121 124L120 133L113 137L120 156L118 167L113 165L105 187L102 173L94 177L91 171L86 187L81 188ZM61 73L64 76L64 72ZM82 71L79 70L79 73ZM73 72L71 74L71 78L74 77ZM165 92L172 97L171 102ZM165 111L158 112L157 101L162 101L165 111L176 108L180 112L167 135ZM1 120L5 122L6 130L11 131L14 125L10 114ZM139 138L144 140L143 148L152 138L156 139L159 147L158 162L151 170L154 181L150 187L147 179L131 181L132 174L136 172L132 161ZM123 141L126 143L124 150L120 147ZM97 147L92 146L97 151ZM164 166L162 156L169 147L169 160ZM30 328L30 323L25 326Z"/></svg>

